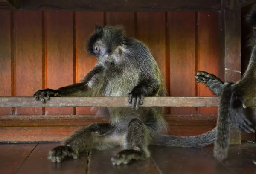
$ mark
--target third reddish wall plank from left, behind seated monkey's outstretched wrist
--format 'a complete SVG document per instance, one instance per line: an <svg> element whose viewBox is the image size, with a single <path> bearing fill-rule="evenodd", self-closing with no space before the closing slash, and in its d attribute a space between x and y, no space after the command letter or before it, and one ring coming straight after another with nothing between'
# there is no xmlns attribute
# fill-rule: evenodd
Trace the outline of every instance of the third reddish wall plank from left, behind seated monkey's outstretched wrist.
<svg viewBox="0 0 256 174"><path fill-rule="evenodd" d="M46 88L56 89L73 80L73 13L45 12ZM39 90L39 89L38 89ZM73 108L45 108L46 115L72 114Z"/></svg>

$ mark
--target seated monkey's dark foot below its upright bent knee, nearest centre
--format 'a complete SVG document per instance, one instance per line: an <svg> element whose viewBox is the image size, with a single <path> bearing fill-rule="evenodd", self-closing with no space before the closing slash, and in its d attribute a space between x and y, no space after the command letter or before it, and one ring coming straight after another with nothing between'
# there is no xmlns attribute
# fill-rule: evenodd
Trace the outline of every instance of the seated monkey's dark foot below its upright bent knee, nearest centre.
<svg viewBox="0 0 256 174"><path fill-rule="evenodd" d="M111 158L113 165L128 164L131 160L145 159L145 155L137 150L122 150L115 157Z"/></svg>

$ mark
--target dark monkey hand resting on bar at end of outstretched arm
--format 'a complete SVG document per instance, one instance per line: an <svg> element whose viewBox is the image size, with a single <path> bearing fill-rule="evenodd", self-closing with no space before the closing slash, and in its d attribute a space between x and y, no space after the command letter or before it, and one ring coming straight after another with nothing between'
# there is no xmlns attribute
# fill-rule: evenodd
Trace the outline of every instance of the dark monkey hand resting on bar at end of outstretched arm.
<svg viewBox="0 0 256 174"><path fill-rule="evenodd" d="M44 97L47 98L47 100L50 99L50 96L54 96L54 97L58 97L61 96L61 93L59 90L52 90L52 89L45 89L45 90L38 90L37 92L35 92L35 94L33 95L33 97L36 100L41 100L42 103L45 103L45 99ZM40 97L40 98L39 98Z"/></svg>

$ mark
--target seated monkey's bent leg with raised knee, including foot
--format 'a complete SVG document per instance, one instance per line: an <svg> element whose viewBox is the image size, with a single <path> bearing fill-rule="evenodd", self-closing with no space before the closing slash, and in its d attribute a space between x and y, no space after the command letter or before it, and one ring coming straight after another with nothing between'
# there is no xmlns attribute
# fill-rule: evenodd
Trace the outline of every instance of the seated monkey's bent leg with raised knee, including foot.
<svg viewBox="0 0 256 174"><path fill-rule="evenodd" d="M113 165L128 164L131 160L140 160L150 157L148 145L151 136L149 130L139 119L132 119L123 140L124 150L111 159Z"/></svg>

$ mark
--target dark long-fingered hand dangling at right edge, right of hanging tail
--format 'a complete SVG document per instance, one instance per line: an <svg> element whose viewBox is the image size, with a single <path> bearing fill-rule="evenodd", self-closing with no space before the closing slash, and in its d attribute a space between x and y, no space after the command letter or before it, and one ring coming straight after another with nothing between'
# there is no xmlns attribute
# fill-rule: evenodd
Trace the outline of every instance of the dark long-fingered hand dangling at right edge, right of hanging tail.
<svg viewBox="0 0 256 174"><path fill-rule="evenodd" d="M245 103L243 94L239 91L235 90L231 96L231 103L230 103L230 119L233 124L240 131L245 131L247 133L254 133L255 130L252 128L253 123L247 119L245 114Z"/></svg>

